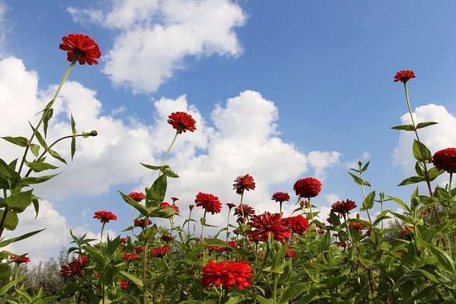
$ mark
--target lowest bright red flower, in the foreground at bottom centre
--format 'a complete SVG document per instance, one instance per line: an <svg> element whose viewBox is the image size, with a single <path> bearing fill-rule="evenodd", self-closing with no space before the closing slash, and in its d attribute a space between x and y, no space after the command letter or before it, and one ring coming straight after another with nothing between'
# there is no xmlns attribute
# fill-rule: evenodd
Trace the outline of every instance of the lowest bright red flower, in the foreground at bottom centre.
<svg viewBox="0 0 456 304"><path fill-rule="evenodd" d="M230 288L237 285L237 288L249 288L252 283L252 268L245 261L238 262L218 262L209 261L202 268L201 285L223 285Z"/></svg>

